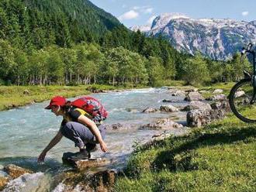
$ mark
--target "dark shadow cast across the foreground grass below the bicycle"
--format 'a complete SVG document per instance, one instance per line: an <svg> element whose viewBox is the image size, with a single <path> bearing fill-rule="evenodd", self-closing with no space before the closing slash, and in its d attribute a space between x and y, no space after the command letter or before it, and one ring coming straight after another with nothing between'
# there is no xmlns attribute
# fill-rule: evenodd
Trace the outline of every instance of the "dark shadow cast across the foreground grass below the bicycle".
<svg viewBox="0 0 256 192"><path fill-rule="evenodd" d="M211 126L213 129L213 127ZM203 131L203 130L202 130ZM194 149L203 148L204 146L216 146L220 144L231 144L234 142L251 142L249 138L256 137L256 129L250 126L244 129L223 130L223 132L201 133L199 135L188 135L181 138L175 138L176 141L180 140L182 145L174 149L162 151L151 163L151 170L161 171L168 169L170 171L177 170L197 170L198 165L193 164L191 159L195 156ZM170 142L171 143L171 142ZM166 146L168 142L157 142L155 146Z"/></svg>

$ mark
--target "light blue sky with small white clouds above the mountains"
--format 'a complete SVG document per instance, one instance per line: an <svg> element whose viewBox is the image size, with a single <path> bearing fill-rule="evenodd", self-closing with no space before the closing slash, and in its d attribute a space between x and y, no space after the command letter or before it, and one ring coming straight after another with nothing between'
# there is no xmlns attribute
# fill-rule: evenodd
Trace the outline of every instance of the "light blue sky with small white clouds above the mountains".
<svg viewBox="0 0 256 192"><path fill-rule="evenodd" d="M178 12L192 19L256 20L256 0L90 0L116 16L126 27L141 26L162 13Z"/></svg>

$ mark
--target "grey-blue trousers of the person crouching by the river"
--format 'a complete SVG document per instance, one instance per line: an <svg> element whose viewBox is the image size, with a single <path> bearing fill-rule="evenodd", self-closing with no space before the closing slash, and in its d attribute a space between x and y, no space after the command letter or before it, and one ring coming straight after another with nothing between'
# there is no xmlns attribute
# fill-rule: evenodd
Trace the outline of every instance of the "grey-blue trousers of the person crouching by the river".
<svg viewBox="0 0 256 192"><path fill-rule="evenodd" d="M105 139L106 127L104 125L98 125L98 129L102 135L102 139ZM67 137L67 139L71 139L75 146L78 146L80 149L88 143L97 143L95 135L92 134L90 129L79 122L67 122L61 127L61 134Z"/></svg>

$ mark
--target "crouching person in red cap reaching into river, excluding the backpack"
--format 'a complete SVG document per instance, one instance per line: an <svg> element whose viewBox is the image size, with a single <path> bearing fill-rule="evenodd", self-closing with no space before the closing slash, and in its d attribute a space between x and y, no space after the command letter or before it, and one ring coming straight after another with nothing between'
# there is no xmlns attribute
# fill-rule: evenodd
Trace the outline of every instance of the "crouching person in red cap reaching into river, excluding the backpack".
<svg viewBox="0 0 256 192"><path fill-rule="evenodd" d="M63 136L71 139L75 146L78 146L80 149L80 152L72 156L71 159L90 158L90 152L96 150L97 143L99 143L104 153L107 152L106 143L103 141L106 135L106 128L101 124L102 122L92 121L86 111L67 105L68 103L71 102L67 101L66 98L57 96L52 98L50 105L46 107L46 109L50 109L55 115L63 116L63 121L61 122L61 128L57 132L57 135L54 136L54 139L50 141L38 157L38 163L44 161L47 152L60 142Z"/></svg>

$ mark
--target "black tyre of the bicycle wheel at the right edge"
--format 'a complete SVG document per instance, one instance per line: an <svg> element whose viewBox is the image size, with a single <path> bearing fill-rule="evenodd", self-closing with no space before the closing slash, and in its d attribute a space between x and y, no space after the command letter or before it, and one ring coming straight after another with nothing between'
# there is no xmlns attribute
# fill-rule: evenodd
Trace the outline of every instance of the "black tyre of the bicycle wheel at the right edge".
<svg viewBox="0 0 256 192"><path fill-rule="evenodd" d="M255 119L247 118L244 115L241 115L240 111L238 111L238 108L234 101L234 99L236 98L236 96L235 96L236 92L239 91L239 88L244 86L245 84L248 84L249 87L251 86L251 89L253 90L253 87L251 85L251 79L243 79L243 80L237 82L237 84L235 84L234 87L232 87L232 89L230 91L230 95L229 95L230 108L231 108L231 111L233 111L234 115L236 115L237 118L239 118L241 121L247 122L247 123L256 123L256 113L254 114ZM244 105L244 104L242 104L242 105Z"/></svg>

